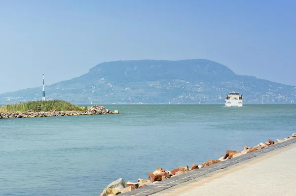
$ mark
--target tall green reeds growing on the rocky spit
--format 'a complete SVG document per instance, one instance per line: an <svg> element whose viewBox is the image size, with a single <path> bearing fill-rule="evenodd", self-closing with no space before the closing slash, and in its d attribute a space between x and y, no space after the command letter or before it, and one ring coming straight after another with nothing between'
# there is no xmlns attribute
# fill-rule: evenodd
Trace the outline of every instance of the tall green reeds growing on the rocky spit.
<svg viewBox="0 0 296 196"><path fill-rule="evenodd" d="M42 112L57 111L83 111L84 108L63 100L28 101L24 103L6 104L0 106L0 113L28 112L30 109L40 109Z"/></svg>

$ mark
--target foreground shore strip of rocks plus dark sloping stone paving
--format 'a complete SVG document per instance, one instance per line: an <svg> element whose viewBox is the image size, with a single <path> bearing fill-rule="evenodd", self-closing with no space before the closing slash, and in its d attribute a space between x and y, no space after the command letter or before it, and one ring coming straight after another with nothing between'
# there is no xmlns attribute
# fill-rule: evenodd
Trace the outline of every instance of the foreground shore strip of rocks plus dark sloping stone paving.
<svg viewBox="0 0 296 196"><path fill-rule="evenodd" d="M139 178L136 183L125 182L122 178L119 178L109 184L99 196L154 194L210 172L226 168L241 161L249 160L262 153L289 145L290 143L296 142L295 138L296 133L293 133L292 136L282 140L277 139L276 142L268 139L265 143L261 142L254 147L249 148L244 146L242 151L226 150L225 155L222 155L218 160L208 160L200 165L193 163L190 169L188 165L179 166L172 171L156 168L153 173L148 173L148 180ZM291 141L291 139L293 140Z"/></svg>

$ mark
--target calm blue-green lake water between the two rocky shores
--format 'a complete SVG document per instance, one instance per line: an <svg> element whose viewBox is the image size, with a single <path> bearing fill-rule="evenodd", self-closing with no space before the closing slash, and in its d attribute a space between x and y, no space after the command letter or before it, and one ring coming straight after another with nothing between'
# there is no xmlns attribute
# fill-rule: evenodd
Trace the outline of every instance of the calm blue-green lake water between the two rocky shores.
<svg viewBox="0 0 296 196"><path fill-rule="evenodd" d="M97 196L157 167L218 159L296 132L296 104L106 105L119 115L0 120L0 195Z"/></svg>

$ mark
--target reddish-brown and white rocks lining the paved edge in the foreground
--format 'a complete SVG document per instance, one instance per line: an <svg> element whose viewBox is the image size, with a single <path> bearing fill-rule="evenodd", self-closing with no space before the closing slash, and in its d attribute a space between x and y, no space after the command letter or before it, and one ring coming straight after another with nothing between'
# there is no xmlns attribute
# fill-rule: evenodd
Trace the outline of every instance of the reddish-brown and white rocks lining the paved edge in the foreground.
<svg viewBox="0 0 296 196"><path fill-rule="evenodd" d="M169 171L169 170L164 170L159 167L159 168L155 169L155 171L148 173L148 180L144 180L144 179L139 178L138 181L135 183L125 182L122 178L119 178L119 179L115 180L114 182L112 182L110 185L108 185L106 187L106 189L104 189L103 193L100 196L115 196L120 193L126 193L129 191L132 191L134 189L140 189L140 188L145 187L149 184L154 184L154 183L157 183L159 181L162 181L162 180L165 180L168 178L174 178L174 177L180 176L184 173L188 173L188 172L191 172L191 171L199 169L199 168L207 167L212 164L216 164L216 163L223 162L223 161L235 158L235 157L239 157L244 154L259 150L261 148L267 148L268 146L271 146L271 145L274 145L277 143L281 143L281 142L285 142L287 140L294 139L294 138L296 138L296 133L293 133L288 138L277 139L276 142L274 142L271 139L268 139L265 143L261 142L257 146L253 146L253 147L244 146L242 151L226 150L225 155L222 155L218 160L208 160L205 163L202 163L200 165L193 163L190 168L188 167L188 165L185 165L185 166L179 166L179 167Z"/></svg>

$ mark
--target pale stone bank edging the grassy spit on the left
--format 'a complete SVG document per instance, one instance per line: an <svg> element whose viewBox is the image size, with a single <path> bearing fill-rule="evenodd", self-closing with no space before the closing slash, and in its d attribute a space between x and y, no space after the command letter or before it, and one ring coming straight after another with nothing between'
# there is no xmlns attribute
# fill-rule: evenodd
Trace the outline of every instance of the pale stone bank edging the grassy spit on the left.
<svg viewBox="0 0 296 196"><path fill-rule="evenodd" d="M94 105L88 107L84 111L56 111L51 110L48 112L37 111L33 112L5 112L0 113L0 119L7 118L35 118L35 117L51 117L51 116L80 116L80 115L96 115L96 114L118 114L119 111L110 111L103 106Z"/></svg>

